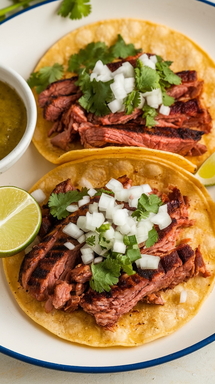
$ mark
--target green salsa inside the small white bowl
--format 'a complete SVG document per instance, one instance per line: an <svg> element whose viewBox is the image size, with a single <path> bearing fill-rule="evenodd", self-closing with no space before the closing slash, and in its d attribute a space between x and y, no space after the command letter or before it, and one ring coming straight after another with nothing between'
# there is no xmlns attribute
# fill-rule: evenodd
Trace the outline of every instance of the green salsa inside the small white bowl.
<svg viewBox="0 0 215 384"><path fill-rule="evenodd" d="M0 160L20 142L27 125L25 105L8 84L0 81Z"/></svg>

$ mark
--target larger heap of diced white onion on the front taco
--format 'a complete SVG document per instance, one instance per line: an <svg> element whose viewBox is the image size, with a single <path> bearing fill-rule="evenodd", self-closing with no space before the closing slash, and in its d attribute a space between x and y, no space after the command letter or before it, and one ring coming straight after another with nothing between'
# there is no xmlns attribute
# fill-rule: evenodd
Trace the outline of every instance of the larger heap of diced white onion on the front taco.
<svg viewBox="0 0 215 384"><path fill-rule="evenodd" d="M89 240L80 248L82 254L82 261L85 264L99 263L103 260L103 255L108 250L125 254L126 245L123 242L124 235L135 235L138 244L144 243L148 239L148 233L153 228L154 223L159 225L160 229L166 228L171 223L171 217L167 213L167 204L159 207L158 213L149 213L149 217L137 221L136 217L132 217L132 211L124 208L125 203L130 207L137 208L138 199L142 194L149 196L152 189L149 184L136 185L130 189L123 189L123 185L116 179L111 179L106 187L113 191L114 196L102 193L99 202L89 204L89 212L85 216L79 216L77 224L69 223L63 228L63 232L75 238L79 243L85 243L87 239L94 238L94 244L90 244ZM83 197L79 200L78 206L81 207L86 201L89 202L90 197L96 193L95 189L88 191L90 196ZM116 200L121 201L122 204L117 204ZM77 205L69 205L68 208L74 207L76 210ZM74 211L71 211L74 212ZM99 233L96 228L101 225L107 225L109 229L103 232L105 237L105 247L102 249L98 244ZM106 227L106 228L107 228ZM107 241L107 242L106 242ZM67 248L73 246L72 243L67 242L64 244ZM96 255L95 257L95 253ZM95 260L94 260L95 258ZM136 260L138 268L143 269L157 269L160 258L152 255L142 255L141 259Z"/></svg>

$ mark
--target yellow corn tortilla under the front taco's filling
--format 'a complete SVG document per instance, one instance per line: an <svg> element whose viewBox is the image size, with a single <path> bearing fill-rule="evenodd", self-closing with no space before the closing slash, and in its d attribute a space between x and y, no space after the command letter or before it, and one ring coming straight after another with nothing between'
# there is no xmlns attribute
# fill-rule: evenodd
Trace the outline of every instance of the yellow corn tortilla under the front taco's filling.
<svg viewBox="0 0 215 384"><path fill-rule="evenodd" d="M177 185L182 195L189 197L189 217L195 219L196 223L184 228L177 243L182 239L190 239L188 243L193 249L200 244L211 276L197 276L177 285L173 290L166 290L161 294L166 301L163 306L139 301L135 308L120 318L115 332L111 332L98 326L94 316L82 308L72 313L53 310L46 314L44 302L28 295L17 281L24 253L3 259L7 281L21 309L36 323L63 339L95 347L144 344L170 334L187 323L197 314L212 291L215 281L215 206L205 187L181 167L173 167L171 162L158 160L153 155L140 157L119 153L118 156L91 156L56 167L42 177L30 192L41 188L47 202L56 184L67 178L71 178L77 188L84 186L84 179L89 180L94 187L101 187L112 177L117 178L123 174L127 174L134 185L149 183L151 187L163 192L169 183ZM182 290L187 291L187 301L179 304Z"/></svg>

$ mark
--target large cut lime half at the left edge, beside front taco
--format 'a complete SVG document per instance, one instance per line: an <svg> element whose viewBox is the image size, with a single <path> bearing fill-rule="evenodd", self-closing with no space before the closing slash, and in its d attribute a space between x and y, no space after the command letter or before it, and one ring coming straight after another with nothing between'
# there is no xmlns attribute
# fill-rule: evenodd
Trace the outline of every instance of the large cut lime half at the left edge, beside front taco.
<svg viewBox="0 0 215 384"><path fill-rule="evenodd" d="M0 257L25 249L39 232L41 211L25 190L0 187Z"/></svg>

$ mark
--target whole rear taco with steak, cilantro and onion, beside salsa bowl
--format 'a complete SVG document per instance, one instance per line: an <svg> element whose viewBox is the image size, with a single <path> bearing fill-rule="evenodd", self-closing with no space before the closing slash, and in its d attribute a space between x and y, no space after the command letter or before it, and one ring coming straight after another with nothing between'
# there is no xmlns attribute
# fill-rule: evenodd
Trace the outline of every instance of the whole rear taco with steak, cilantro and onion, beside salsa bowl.
<svg viewBox="0 0 215 384"><path fill-rule="evenodd" d="M49 84L50 68L63 78ZM215 65L167 26L133 19L83 26L47 51L30 86L40 84L44 71L49 82L36 89L49 85L39 97L34 91L33 142L55 164L97 148L132 152L135 146L173 152L199 166L215 150Z"/></svg>

